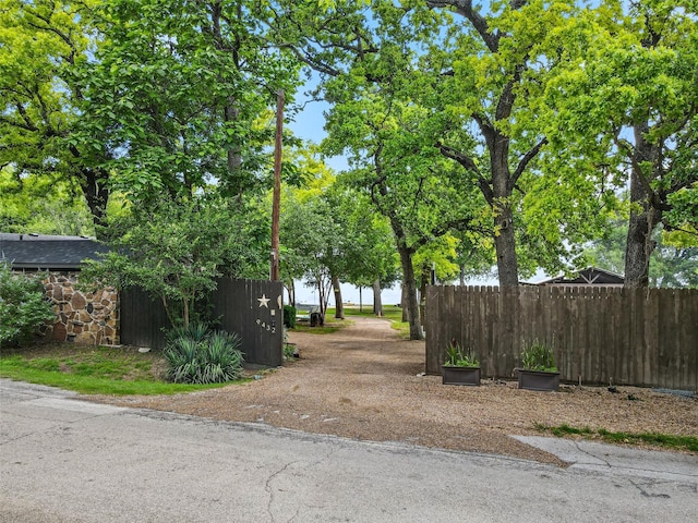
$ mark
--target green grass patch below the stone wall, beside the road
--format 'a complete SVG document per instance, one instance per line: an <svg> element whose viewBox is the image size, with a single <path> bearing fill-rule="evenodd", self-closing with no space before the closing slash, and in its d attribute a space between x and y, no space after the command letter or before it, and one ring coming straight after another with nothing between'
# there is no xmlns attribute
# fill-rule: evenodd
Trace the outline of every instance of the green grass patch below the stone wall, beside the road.
<svg viewBox="0 0 698 523"><path fill-rule="evenodd" d="M0 378L110 396L173 394L228 385L170 384L163 378L164 365L159 351L55 343L3 352Z"/></svg>

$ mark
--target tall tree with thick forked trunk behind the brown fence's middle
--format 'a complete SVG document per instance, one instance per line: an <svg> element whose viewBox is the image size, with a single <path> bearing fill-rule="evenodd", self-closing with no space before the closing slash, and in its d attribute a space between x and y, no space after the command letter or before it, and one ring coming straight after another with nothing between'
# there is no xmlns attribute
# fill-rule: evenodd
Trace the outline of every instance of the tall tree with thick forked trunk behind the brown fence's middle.
<svg viewBox="0 0 698 523"><path fill-rule="evenodd" d="M472 222L473 212L478 215L477 229L496 250L502 285L518 284L519 271L532 272L539 259L559 266L577 254L567 246L588 239L594 231L591 224L599 226L593 219L598 205L564 215L571 224L551 217L547 238L535 224L544 217L522 212L538 200L524 199L540 177L538 162L547 145L538 112L551 71L566 60L559 35L578 12L575 2L493 2L479 8L464 0L399 5L334 1L312 15L311 3L289 8L288 17L302 21L294 27L305 29L288 29L289 40L298 41L306 63L325 80L321 90L333 104L327 129L334 147L356 147L361 136L372 133L372 147L356 149L361 151L357 167L368 169L365 158L377 151L378 143L384 159L393 154L385 135L399 130L406 136L402 146L412 139L402 150L409 161L401 173L408 172L408 162L433 157L426 145L454 160L468 188L481 192L479 209L470 207L461 218ZM405 118L409 111L414 113L411 120ZM442 172L448 174L441 180L449 183L453 171ZM556 198L554 190L542 193L541 187L539 196ZM419 193L419 185L412 190ZM562 233L550 232L555 229Z"/></svg>

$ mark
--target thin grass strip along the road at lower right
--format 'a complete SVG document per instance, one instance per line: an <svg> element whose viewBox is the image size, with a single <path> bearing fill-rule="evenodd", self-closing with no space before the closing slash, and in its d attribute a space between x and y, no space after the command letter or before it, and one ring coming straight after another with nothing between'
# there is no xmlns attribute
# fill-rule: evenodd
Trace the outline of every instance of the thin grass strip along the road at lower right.
<svg viewBox="0 0 698 523"><path fill-rule="evenodd" d="M581 436L588 439L601 439L602 441L606 441L610 443L645 443L665 449L688 450L691 452L698 452L698 437L696 436L675 436L671 434L658 433L612 433L604 428L594 430L589 427L570 427L566 424L559 425L557 427L549 427L545 425L535 424L535 428L538 430L550 433L558 437Z"/></svg>

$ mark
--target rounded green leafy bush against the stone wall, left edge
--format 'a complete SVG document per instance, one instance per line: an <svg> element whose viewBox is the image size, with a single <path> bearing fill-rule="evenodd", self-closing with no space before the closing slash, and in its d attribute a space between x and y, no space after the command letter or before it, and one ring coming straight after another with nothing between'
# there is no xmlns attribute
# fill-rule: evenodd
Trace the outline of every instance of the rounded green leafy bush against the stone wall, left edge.
<svg viewBox="0 0 698 523"><path fill-rule="evenodd" d="M0 263L0 344L31 339L43 323L53 317L41 282L15 275Z"/></svg>

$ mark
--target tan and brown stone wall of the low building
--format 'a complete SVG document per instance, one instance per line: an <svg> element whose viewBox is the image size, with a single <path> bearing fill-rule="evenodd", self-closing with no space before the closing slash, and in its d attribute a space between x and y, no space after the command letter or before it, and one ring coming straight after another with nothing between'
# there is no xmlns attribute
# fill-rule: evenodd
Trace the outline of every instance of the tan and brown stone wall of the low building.
<svg viewBox="0 0 698 523"><path fill-rule="evenodd" d="M119 295L113 288L95 292L80 289L77 272L50 272L43 283L57 317L48 327L48 339L119 344Z"/></svg>

